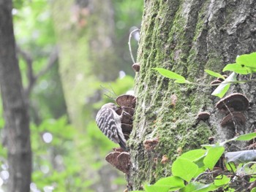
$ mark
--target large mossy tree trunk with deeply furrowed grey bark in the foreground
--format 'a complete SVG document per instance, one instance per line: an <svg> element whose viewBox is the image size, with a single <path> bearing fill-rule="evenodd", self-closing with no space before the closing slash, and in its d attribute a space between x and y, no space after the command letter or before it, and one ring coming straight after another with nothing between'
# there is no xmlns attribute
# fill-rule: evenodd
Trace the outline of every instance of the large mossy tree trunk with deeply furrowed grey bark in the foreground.
<svg viewBox="0 0 256 192"><path fill-rule="evenodd" d="M212 79L204 69L221 72L237 55L255 50L255 0L145 1L135 88L138 103L129 139L130 189L170 175L171 163L181 151L207 144L210 136L220 141L236 134L221 128L224 114L214 107L219 99L211 96L211 88L177 85L151 68L170 69L208 84ZM230 93L244 93L252 102L243 133L255 129L255 90L255 83L230 89ZM196 120L200 111L211 112L208 122ZM148 139L159 139L159 143L146 150L143 142ZM163 155L168 158L165 164L161 163Z"/></svg>

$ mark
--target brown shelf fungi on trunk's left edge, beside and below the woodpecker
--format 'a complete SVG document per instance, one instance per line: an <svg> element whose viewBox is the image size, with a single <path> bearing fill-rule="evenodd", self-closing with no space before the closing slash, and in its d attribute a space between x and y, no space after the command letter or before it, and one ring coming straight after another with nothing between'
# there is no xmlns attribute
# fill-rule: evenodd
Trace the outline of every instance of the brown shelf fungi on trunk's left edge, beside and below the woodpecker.
<svg viewBox="0 0 256 192"><path fill-rule="evenodd" d="M132 117L135 112L136 98L132 95L121 95L116 98L116 104L118 104L118 109L116 113L121 115L121 129L124 134L124 138L129 139L129 134L132 132ZM129 153L125 152L121 148L114 148L114 152L109 153L105 160L108 161L116 169L129 173L130 158Z"/></svg>

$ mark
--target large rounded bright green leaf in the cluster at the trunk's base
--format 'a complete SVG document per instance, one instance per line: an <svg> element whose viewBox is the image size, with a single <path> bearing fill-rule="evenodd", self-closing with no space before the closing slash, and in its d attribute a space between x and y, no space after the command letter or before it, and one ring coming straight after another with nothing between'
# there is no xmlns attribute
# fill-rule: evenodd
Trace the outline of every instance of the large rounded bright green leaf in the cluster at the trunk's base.
<svg viewBox="0 0 256 192"><path fill-rule="evenodd" d="M172 172L174 176L181 177L189 182L197 173L198 166L185 158L177 158L173 162Z"/></svg>

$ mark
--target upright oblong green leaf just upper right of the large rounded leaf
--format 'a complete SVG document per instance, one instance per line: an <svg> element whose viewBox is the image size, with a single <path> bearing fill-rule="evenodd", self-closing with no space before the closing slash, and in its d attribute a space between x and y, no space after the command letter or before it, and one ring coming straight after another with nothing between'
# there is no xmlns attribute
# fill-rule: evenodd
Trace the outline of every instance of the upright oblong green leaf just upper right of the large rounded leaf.
<svg viewBox="0 0 256 192"><path fill-rule="evenodd" d="M203 159L203 163L209 168L214 169L215 164L217 164L217 161L222 156L222 153L224 152L225 148L222 146L215 146L211 147L208 150L208 153L206 154L206 157Z"/></svg>

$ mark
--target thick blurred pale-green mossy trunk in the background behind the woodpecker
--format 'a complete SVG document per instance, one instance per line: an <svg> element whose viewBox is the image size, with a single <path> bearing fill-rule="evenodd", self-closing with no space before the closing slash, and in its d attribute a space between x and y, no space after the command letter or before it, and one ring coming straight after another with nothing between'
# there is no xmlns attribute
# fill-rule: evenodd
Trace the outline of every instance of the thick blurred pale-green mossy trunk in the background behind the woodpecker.
<svg viewBox="0 0 256 192"><path fill-rule="evenodd" d="M91 164L96 161L104 163L104 157L99 155L97 146L84 145L86 128L95 114L93 104L100 99L97 90L99 80L110 81L118 77L117 58L113 50L111 1L55 0L52 11L60 50L59 72L64 96L69 118L79 131L80 138L74 139L80 148L81 178L84 182L94 180L94 191L114 191L111 180L116 178L116 171L113 172L108 165L97 174Z"/></svg>

